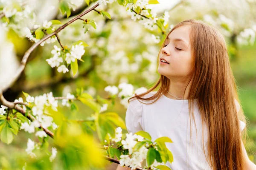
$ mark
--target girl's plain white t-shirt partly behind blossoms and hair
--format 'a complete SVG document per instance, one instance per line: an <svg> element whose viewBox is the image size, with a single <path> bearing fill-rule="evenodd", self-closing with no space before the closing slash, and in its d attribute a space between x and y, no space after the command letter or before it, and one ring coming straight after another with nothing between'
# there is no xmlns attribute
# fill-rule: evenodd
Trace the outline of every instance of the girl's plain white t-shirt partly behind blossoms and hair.
<svg viewBox="0 0 256 170"><path fill-rule="evenodd" d="M143 96L148 98L154 92ZM131 101L131 100L130 100ZM196 101L196 100L194 100ZM145 101L151 103L152 101ZM236 101L236 108L240 106ZM198 105L194 109L195 122L191 116L192 139L190 140L190 119L188 100L170 99L162 95L156 102L146 105L134 99L128 105L125 122L128 132L136 133L144 130L155 139L168 136L173 143L166 143L166 147L173 154L173 162L166 163L172 170L211 170L204 155L202 144L202 123ZM195 129L197 128L197 133ZM245 123L240 121L240 130ZM204 147L207 152L207 127L204 127Z"/></svg>

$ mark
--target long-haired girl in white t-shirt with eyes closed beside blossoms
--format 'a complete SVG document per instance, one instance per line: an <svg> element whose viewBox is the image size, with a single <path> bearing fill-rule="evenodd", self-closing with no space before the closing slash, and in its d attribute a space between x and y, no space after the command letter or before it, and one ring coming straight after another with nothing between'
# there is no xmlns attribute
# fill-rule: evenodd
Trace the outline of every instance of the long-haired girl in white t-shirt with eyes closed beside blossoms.
<svg viewBox="0 0 256 170"><path fill-rule="evenodd" d="M158 62L154 87L128 100L128 132L172 139L166 143L172 170L256 170L244 148L245 117L218 29L198 20L178 23Z"/></svg>

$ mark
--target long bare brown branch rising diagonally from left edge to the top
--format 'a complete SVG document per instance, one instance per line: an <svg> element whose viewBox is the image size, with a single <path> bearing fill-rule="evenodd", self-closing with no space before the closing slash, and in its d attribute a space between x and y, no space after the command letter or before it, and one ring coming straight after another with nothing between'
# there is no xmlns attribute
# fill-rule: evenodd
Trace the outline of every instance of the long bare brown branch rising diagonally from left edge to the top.
<svg viewBox="0 0 256 170"><path fill-rule="evenodd" d="M59 27L58 29L56 29L54 32L52 32L51 34L48 34L46 37L43 37L41 40L39 40L38 42L36 42L35 44L33 44L24 54L23 59L21 60L20 66L17 69L14 77L12 77L10 79L9 82L7 82L5 85L1 85L0 89L2 91L6 91L7 88L9 88L10 85L12 85L17 78L20 76L20 74L22 73L22 71L24 70L25 66L26 66L26 62L29 58L29 55L32 53L32 51L35 50L35 48L40 45L42 42L44 42L45 40L47 40L48 38L52 37L53 35L56 35L58 32L60 32L62 29L64 29L65 27L67 27L68 25L70 25L71 23L73 23L74 21L78 20L78 18L84 16L85 14L87 14L88 12L92 11L94 8L96 8L97 6L99 6L99 3L96 3L96 5L94 5L92 8L84 11L83 13L79 14L78 16L74 17L72 20L68 21L67 23L65 23L64 25L62 25L61 27Z"/></svg>

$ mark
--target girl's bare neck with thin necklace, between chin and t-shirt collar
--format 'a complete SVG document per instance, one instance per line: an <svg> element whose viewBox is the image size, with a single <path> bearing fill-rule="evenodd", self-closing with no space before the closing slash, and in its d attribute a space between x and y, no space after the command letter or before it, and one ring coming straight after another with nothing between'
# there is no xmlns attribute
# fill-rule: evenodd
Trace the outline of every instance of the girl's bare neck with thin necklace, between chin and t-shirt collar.
<svg viewBox="0 0 256 170"><path fill-rule="evenodd" d="M168 88L168 91L170 95L167 91L166 91L166 96L171 98L171 99L176 99L177 98L180 98L180 99L188 99L189 98L189 89L190 89L190 86L191 86L191 83L189 83L188 87L186 88L186 84L187 84L188 80L184 80L184 81L173 81L170 79L170 85L169 85L169 88ZM186 91L185 91L185 88L186 88ZM184 92L185 92L185 96L184 95ZM175 98L175 97L177 98Z"/></svg>

